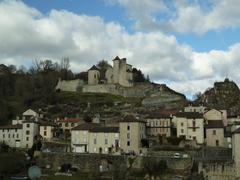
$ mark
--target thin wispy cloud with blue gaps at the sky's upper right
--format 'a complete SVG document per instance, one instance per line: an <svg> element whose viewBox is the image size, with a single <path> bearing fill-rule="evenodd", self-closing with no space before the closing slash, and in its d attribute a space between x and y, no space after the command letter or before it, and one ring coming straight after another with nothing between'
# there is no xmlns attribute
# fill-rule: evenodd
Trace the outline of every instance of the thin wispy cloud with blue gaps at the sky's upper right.
<svg viewBox="0 0 240 180"><path fill-rule="evenodd" d="M204 34L240 26L240 1L118 0L139 30Z"/></svg>

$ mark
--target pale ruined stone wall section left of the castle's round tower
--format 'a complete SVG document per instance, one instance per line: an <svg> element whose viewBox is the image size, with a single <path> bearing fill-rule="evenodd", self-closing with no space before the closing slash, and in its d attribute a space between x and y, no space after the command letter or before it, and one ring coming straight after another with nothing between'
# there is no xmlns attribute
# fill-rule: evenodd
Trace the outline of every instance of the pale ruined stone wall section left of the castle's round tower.
<svg viewBox="0 0 240 180"><path fill-rule="evenodd" d="M60 89L62 91L74 91L74 92L78 92L78 87L79 86L83 86L84 85L84 81L82 79L75 79L75 80L70 80L70 81L66 81L66 80L61 80L59 79L57 86L55 87L55 89Z"/></svg>

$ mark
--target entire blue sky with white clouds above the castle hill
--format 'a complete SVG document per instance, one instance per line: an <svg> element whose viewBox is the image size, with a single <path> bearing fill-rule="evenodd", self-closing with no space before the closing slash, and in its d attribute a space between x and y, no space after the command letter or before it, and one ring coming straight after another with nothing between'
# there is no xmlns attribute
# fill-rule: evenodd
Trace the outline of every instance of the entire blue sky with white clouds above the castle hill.
<svg viewBox="0 0 240 180"><path fill-rule="evenodd" d="M0 0L0 64L70 59L74 73L119 56L188 99L240 85L239 0Z"/></svg>

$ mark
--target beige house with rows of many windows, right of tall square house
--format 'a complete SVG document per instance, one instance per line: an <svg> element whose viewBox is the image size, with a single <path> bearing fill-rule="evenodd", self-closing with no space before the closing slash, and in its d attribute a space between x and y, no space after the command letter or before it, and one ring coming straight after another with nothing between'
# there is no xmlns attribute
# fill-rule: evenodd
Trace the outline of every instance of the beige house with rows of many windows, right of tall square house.
<svg viewBox="0 0 240 180"><path fill-rule="evenodd" d="M159 111L152 111L146 117L147 135L158 137L170 137L172 130L172 117L166 116Z"/></svg>

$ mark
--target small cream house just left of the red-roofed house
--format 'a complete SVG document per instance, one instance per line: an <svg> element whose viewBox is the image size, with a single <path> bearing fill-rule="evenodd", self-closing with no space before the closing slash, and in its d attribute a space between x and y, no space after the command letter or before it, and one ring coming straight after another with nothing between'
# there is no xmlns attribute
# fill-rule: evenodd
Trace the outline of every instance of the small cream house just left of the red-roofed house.
<svg viewBox="0 0 240 180"><path fill-rule="evenodd" d="M58 125L53 122L44 122L39 125L39 134L44 141L52 141L59 136Z"/></svg>

